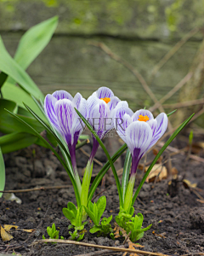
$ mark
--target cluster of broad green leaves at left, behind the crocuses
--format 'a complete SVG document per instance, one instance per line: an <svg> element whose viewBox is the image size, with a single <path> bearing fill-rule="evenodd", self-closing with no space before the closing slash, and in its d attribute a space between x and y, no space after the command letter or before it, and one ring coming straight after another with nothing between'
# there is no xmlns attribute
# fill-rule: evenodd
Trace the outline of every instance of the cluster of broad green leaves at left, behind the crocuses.
<svg viewBox="0 0 204 256"><path fill-rule="evenodd" d="M1 124L0 131L8 136L1 137L0 146L3 153L12 152L20 148L26 148L33 143L46 147L29 129L25 130L25 125L21 125L16 119L4 111L7 108L13 113L20 114L21 119L31 125L38 132L43 131L43 126L39 125L31 114L26 111L23 102L37 113L41 119L46 121L44 114L37 108L32 96L43 100L41 90L32 81L25 69L34 61L52 38L58 18L45 20L36 26L31 27L22 38L14 55L14 59L5 49L3 40L0 37L0 89L3 99L0 102ZM20 86L17 86L18 83ZM27 134L26 134L27 133ZM13 141L12 141L12 139ZM52 137L50 137L52 140ZM54 141L52 141L53 143ZM56 146L56 144L54 144Z"/></svg>

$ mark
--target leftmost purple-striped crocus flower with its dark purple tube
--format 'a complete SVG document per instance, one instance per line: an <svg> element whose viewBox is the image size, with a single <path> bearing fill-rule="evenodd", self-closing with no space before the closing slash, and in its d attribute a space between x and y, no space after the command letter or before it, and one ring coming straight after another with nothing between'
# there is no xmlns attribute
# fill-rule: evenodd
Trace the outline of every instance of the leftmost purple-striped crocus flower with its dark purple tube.
<svg viewBox="0 0 204 256"><path fill-rule="evenodd" d="M67 143L74 174L78 179L78 183L80 183L77 173L76 144L84 127L74 108L77 108L87 118L88 104L80 93L77 93L73 98L65 90L56 90L52 95L48 94L44 100L44 111L49 123Z"/></svg>

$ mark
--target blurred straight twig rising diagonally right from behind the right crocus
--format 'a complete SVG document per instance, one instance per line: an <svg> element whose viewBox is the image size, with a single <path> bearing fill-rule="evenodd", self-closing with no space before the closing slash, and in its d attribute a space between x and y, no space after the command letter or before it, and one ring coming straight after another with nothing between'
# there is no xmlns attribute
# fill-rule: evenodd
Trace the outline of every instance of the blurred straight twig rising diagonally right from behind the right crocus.
<svg viewBox="0 0 204 256"><path fill-rule="evenodd" d="M150 107L149 110L151 112L153 112L156 110L156 108L159 107L159 104L166 102L167 99L169 99L171 96L173 96L174 93L176 93L179 89L181 89L184 86L184 84L186 84L190 80L190 78L192 77L192 74L193 73L191 73L191 72L187 73L187 75L184 77L184 79L182 79L178 84L176 84L172 90L169 90L168 93L165 96L163 96L161 98L161 100L159 102L157 102L154 106Z"/></svg>

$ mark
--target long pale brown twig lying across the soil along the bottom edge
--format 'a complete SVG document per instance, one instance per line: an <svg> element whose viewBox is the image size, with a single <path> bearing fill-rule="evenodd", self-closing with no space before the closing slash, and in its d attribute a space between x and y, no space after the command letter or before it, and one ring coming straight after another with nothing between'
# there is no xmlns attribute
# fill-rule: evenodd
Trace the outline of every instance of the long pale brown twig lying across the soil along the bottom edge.
<svg viewBox="0 0 204 256"><path fill-rule="evenodd" d="M121 247L105 247L105 246L100 246L97 244L92 244L92 243L86 243L82 241L71 241L71 240L61 240L61 239L43 239L43 240L38 240L34 241L31 243L30 246L36 245L37 243L41 242L59 242L59 243L64 243L64 244L75 244L78 246L83 246L83 247L95 247L95 248L100 248L100 249L109 249L111 251L115 252L124 252L124 253L140 253L140 254L149 254L152 256L168 256L163 253L152 253L152 252L145 252L145 251L140 251L137 249L128 249L128 248L121 248Z"/></svg>

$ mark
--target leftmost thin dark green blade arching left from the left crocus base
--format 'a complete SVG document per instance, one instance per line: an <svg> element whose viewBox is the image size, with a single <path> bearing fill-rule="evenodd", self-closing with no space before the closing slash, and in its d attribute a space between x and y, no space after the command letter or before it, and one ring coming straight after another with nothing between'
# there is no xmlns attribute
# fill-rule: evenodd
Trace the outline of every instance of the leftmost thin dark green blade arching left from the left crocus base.
<svg viewBox="0 0 204 256"><path fill-rule="evenodd" d="M6 110L6 109L5 109ZM8 111L8 110L6 110ZM76 199L77 199L77 206L80 207L81 206L81 201L80 201L80 196L77 190L77 184L75 182L75 179L73 178L71 171L69 170L69 168L65 165L65 162L61 159L61 157L59 156L59 154L56 152L56 150L54 150L54 148L35 130L31 127L31 125L27 124L23 119L20 119L20 117L18 117L16 114L8 111L8 113L10 113L12 116L14 116L14 118L18 119L22 124L26 125L28 128L31 129L31 131L36 134L36 136L42 140L43 143L45 143L47 145L47 147L49 149L51 149L53 151L53 153L56 155L56 157L58 158L59 162L62 164L62 166L64 166L66 172L68 173L70 179L71 179L71 183L73 184L74 190L75 190L75 195L76 195Z"/></svg>

